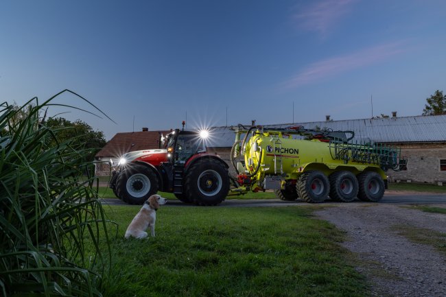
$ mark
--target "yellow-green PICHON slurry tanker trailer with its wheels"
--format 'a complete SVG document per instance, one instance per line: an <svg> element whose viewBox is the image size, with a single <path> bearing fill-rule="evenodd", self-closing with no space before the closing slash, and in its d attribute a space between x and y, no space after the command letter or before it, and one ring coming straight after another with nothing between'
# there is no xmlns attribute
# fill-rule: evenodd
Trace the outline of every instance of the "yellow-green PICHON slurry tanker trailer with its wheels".
<svg viewBox="0 0 446 297"><path fill-rule="evenodd" d="M239 147L242 132L246 136ZM329 133L261 126L238 130L234 149L235 156L240 152L244 158L243 166L236 168L240 189L272 189L281 200L376 202L387 188L385 170L396 170L401 162L389 147L353 144Z"/></svg>

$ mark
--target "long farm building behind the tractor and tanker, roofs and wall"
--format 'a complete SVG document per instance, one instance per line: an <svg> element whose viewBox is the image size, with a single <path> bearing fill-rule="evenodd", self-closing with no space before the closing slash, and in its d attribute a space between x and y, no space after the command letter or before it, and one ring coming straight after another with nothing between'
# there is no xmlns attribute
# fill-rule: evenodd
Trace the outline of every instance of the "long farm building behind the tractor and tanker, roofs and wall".
<svg viewBox="0 0 446 297"><path fill-rule="evenodd" d="M327 117L328 118L328 117ZM389 180L398 182L446 183L446 115L349 119L267 125L270 128L303 126L306 129L349 130L353 141L382 143L401 147L401 156L408 159L406 170L388 171ZM119 158L124 152L157 148L159 131L118 133L97 155L97 160ZM231 165L230 152L234 132L229 127L211 130L209 148ZM134 144L132 146L132 144ZM105 173L98 167L98 174ZM106 170L108 171L108 169ZM108 173L108 172L107 172Z"/></svg>

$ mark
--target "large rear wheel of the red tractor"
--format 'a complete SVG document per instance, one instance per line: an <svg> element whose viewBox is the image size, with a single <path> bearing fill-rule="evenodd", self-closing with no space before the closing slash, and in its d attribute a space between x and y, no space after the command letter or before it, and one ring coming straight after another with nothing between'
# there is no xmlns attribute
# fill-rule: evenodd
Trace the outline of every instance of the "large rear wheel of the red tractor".
<svg viewBox="0 0 446 297"><path fill-rule="evenodd" d="M198 161L187 171L185 189L187 198L195 204L217 205L228 195L228 169L214 159Z"/></svg>

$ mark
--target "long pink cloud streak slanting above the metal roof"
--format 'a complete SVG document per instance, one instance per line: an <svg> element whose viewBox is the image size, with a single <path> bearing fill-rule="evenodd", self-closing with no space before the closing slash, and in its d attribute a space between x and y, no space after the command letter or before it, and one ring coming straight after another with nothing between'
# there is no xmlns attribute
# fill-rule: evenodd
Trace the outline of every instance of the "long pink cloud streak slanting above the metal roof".
<svg viewBox="0 0 446 297"><path fill-rule="evenodd" d="M293 78L283 83L285 88L294 88L303 84L309 84L337 75L352 69L364 67L379 62L390 56L403 52L401 43L389 43L379 45L370 49L362 49L348 56L330 58L310 64L308 67L294 75Z"/></svg>

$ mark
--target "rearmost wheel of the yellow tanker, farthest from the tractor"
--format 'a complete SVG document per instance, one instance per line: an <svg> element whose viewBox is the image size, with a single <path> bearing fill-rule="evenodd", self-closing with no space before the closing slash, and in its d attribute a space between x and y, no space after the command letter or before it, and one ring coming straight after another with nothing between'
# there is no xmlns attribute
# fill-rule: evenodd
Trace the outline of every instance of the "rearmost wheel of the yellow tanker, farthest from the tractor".
<svg viewBox="0 0 446 297"><path fill-rule="evenodd" d="M362 201L378 202L384 196L384 180L376 172L362 172L357 176L360 191L357 198Z"/></svg>

